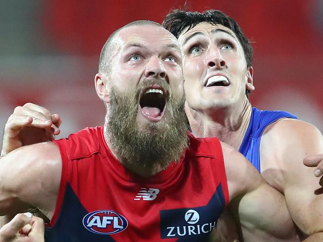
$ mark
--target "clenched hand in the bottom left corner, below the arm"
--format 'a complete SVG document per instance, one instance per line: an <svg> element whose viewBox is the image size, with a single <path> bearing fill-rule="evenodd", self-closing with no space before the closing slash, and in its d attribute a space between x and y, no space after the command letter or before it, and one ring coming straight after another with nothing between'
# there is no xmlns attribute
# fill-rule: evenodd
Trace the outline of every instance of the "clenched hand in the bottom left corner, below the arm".
<svg viewBox="0 0 323 242"><path fill-rule="evenodd" d="M19 213L0 229L0 242L44 242L44 221Z"/></svg>

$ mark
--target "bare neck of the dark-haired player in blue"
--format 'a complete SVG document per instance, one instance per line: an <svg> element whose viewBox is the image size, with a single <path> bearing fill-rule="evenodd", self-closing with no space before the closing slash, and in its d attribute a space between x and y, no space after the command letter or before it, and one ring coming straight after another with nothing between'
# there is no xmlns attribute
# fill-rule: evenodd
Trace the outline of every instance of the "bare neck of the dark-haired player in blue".
<svg viewBox="0 0 323 242"><path fill-rule="evenodd" d="M188 110L187 117L196 137L218 137L239 150L251 118L251 104L244 99L241 107L222 108L210 113Z"/></svg>

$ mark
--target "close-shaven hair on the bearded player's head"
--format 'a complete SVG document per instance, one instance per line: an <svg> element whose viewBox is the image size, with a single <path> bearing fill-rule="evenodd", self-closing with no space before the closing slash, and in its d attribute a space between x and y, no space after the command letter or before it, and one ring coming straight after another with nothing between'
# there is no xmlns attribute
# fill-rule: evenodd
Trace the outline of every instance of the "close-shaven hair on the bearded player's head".
<svg viewBox="0 0 323 242"><path fill-rule="evenodd" d="M128 23L126 25L124 25L123 27L117 29L116 31L114 31L109 38L107 39L107 41L105 42L102 50L101 50L101 54L100 54L100 60L99 60L99 73L104 73L104 74L109 74L110 70L111 70L111 63L112 63L112 55L114 53L116 53L117 51L117 45L116 45L116 41L115 38L118 35L118 33L128 27L131 26L144 26L144 25L154 25L154 26L158 26L161 27L161 24L154 22L154 21L149 21L149 20L137 20L131 23Z"/></svg>

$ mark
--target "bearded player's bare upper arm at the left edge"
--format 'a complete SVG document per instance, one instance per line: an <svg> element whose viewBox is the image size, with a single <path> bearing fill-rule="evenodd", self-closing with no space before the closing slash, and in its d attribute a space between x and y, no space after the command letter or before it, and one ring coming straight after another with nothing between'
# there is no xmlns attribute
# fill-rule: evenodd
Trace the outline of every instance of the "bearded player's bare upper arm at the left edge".
<svg viewBox="0 0 323 242"><path fill-rule="evenodd" d="M51 218L61 178L61 157L52 142L16 149L0 159L0 215L37 207Z"/></svg>

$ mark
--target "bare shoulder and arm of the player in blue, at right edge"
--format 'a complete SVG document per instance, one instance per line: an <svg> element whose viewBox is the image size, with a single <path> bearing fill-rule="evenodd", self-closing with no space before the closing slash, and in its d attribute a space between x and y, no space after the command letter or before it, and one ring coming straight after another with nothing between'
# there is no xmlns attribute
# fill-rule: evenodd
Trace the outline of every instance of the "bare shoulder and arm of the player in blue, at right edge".
<svg viewBox="0 0 323 242"><path fill-rule="evenodd" d="M266 180L271 182L279 174L276 185L285 195L295 224L309 237L306 241L323 240L323 189L320 178L313 176L315 168L303 164L304 158L323 153L322 134L309 123L287 119L272 125L262 139L261 146L266 147L261 151L262 162L272 160L276 167L276 171L269 167L263 172Z"/></svg>

